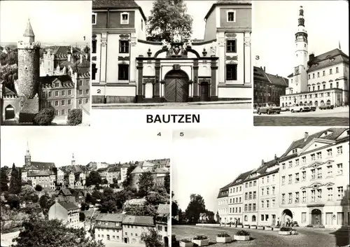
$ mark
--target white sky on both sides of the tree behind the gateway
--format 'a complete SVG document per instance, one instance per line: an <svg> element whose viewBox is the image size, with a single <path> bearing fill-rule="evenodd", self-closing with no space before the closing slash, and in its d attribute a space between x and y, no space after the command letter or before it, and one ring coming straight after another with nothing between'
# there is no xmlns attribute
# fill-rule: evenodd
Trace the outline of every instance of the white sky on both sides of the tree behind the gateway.
<svg viewBox="0 0 350 247"><path fill-rule="evenodd" d="M146 17L151 15L151 9L153 6L153 1L147 1L147 0L137 0L137 4L144 10L144 14ZM205 29L205 22L204 17L207 15L209 9L213 5L213 3L216 3L216 1L185 1L187 6L187 13L193 17L193 36L192 38L195 39L203 39L204 38L204 29ZM198 4L200 3L200 4Z"/></svg>

